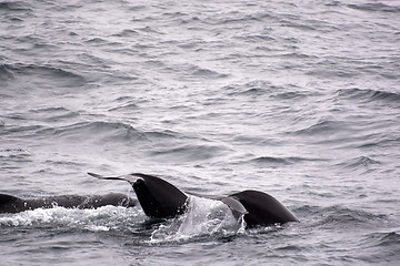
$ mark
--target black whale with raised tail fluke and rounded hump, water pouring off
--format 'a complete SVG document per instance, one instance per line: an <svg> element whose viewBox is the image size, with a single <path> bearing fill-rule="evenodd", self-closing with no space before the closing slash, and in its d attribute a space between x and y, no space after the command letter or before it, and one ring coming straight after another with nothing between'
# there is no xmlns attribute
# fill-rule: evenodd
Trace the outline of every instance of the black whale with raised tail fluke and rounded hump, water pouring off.
<svg viewBox="0 0 400 266"><path fill-rule="evenodd" d="M118 180L129 182L146 215L152 218L169 218L187 211L188 195L221 201L233 214L244 215L247 226L284 224L299 222L283 204L273 196L259 191L242 191L228 196L183 193L167 181L141 173L121 176L89 175L100 180Z"/></svg>

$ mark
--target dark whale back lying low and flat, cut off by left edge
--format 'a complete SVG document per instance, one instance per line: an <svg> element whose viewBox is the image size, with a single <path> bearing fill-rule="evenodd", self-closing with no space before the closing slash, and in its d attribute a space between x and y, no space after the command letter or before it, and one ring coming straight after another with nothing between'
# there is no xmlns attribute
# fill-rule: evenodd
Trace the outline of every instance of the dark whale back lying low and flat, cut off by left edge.
<svg viewBox="0 0 400 266"><path fill-rule="evenodd" d="M54 206L66 208L98 208L106 205L133 207L137 205L137 201L122 193L91 196L60 195L26 200L0 194L0 213L19 213L28 209L51 208Z"/></svg>

